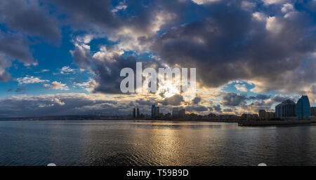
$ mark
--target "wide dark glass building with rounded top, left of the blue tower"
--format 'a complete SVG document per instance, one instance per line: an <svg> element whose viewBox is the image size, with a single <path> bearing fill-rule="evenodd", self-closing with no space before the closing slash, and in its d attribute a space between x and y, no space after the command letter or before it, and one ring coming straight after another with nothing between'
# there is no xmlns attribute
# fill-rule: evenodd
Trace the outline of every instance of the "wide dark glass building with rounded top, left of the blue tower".
<svg viewBox="0 0 316 180"><path fill-rule="evenodd" d="M276 118L289 118L296 116L296 104L289 99L275 106Z"/></svg>

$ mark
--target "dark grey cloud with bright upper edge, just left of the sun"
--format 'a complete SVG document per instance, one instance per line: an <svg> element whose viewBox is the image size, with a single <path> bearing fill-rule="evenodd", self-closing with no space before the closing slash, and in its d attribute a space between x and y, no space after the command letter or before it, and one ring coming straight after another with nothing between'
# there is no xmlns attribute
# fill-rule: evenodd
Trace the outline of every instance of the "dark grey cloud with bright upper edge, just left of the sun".
<svg viewBox="0 0 316 180"><path fill-rule="evenodd" d="M71 51L74 62L81 67L81 69L91 71L94 75L93 80L96 81L96 85L93 86L93 92L121 94L120 84L125 78L124 76L120 76L121 69L133 69L135 79L136 62L142 62L143 69L147 67L164 67L161 62L156 60L143 60L133 55L123 56L111 46L107 46L106 48L107 52L100 51L100 54L96 55L96 57L93 57L90 49L85 48L84 45L77 46ZM107 53L111 53L112 56L106 55ZM135 84L134 86L136 88Z"/></svg>

